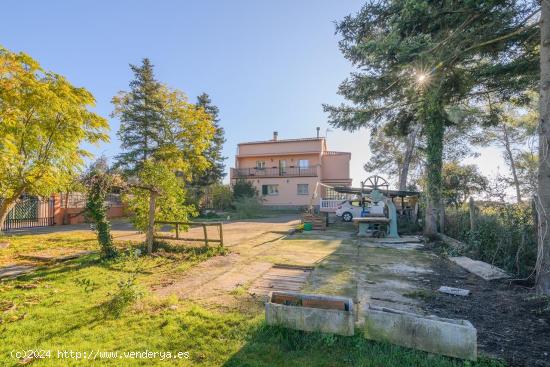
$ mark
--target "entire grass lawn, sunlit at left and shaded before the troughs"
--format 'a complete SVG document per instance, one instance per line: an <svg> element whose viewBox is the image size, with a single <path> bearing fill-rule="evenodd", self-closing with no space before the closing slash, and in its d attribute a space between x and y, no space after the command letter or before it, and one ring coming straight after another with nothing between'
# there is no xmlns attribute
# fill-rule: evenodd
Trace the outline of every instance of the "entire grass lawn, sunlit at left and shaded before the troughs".
<svg viewBox="0 0 550 367"><path fill-rule="evenodd" d="M35 237L44 242L55 238L50 236ZM11 243L16 247L18 242ZM0 365L31 362L10 355L28 350L49 354L32 361L36 366L500 365L491 360L470 364L370 342L360 335L337 337L268 327L261 302L246 292L235 294L240 306L229 310L206 309L174 296L159 299L153 285L225 251L166 245L160 253L138 257L130 247L111 261L91 254L0 282ZM178 358L166 354L145 358L146 351L170 352ZM73 352L74 358L61 360L63 352L65 357ZM90 364L88 359L94 356Z"/></svg>

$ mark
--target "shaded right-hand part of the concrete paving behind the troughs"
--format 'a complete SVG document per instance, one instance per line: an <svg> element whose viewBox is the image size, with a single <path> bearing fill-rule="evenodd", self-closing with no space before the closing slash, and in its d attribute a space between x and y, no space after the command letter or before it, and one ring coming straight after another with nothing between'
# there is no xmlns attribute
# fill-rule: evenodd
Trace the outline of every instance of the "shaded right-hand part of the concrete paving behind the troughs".
<svg viewBox="0 0 550 367"><path fill-rule="evenodd" d="M371 303L421 312L421 300L407 295L418 292L423 275L433 272L430 264L436 255L420 251L423 245L415 237L398 241L357 238L350 235L352 231L334 230L322 235L325 241L332 236L338 244L317 264L304 291L350 297L358 307Z"/></svg>

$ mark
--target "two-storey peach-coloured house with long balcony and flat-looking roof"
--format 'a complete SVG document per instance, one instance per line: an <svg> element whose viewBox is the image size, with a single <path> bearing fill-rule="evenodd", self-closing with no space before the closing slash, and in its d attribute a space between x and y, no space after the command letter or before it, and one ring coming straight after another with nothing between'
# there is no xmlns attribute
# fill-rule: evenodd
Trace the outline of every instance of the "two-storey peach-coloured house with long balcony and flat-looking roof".
<svg viewBox="0 0 550 367"><path fill-rule="evenodd" d="M240 143L231 169L231 184L248 180L266 206L277 208L318 206L329 187L351 186L351 153L328 150L324 137L273 138Z"/></svg>

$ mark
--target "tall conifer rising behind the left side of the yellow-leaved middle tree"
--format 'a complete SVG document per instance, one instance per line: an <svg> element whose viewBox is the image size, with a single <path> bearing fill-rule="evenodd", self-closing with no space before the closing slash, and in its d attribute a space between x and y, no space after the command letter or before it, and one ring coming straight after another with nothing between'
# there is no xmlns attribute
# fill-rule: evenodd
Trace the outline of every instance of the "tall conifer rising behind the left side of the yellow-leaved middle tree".
<svg viewBox="0 0 550 367"><path fill-rule="evenodd" d="M141 66L130 68L134 73L130 91L113 97L112 117L120 118L117 135L123 150L116 158L116 166L135 174L162 143L165 121L162 85L155 79L151 61L145 58Z"/></svg>

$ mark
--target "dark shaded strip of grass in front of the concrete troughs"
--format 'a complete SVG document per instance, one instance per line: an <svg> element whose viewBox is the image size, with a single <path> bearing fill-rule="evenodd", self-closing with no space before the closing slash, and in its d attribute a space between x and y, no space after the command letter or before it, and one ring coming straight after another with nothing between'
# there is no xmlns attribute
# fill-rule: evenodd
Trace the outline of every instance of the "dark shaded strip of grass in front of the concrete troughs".
<svg viewBox="0 0 550 367"><path fill-rule="evenodd" d="M478 362L436 356L387 343L353 337L306 333L262 323L246 345L224 367L242 366L425 366L503 367L499 361L481 358Z"/></svg>

